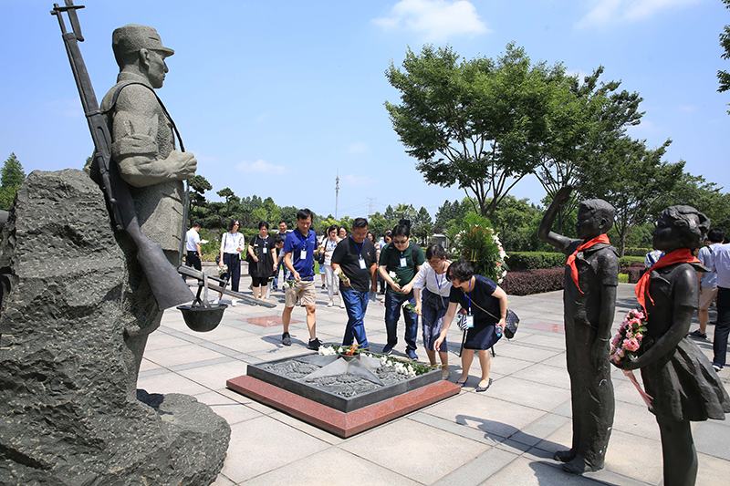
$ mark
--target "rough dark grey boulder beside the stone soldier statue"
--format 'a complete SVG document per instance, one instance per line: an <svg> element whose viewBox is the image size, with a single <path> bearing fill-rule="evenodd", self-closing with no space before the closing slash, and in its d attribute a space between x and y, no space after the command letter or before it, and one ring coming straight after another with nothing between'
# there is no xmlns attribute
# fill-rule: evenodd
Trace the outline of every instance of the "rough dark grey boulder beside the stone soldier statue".
<svg viewBox="0 0 730 486"><path fill-rule="evenodd" d="M18 189L0 243L0 485L201 486L223 467L224 419L130 392L127 261L84 172Z"/></svg>

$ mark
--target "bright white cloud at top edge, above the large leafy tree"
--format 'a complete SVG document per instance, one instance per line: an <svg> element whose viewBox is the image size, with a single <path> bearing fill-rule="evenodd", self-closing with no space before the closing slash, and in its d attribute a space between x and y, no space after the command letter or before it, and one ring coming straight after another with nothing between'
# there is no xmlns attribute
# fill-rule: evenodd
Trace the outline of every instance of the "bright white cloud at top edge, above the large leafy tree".
<svg viewBox="0 0 730 486"><path fill-rule="evenodd" d="M401 0L393 5L391 16L373 19L373 23L384 30L415 32L429 41L489 32L476 7L466 0Z"/></svg>

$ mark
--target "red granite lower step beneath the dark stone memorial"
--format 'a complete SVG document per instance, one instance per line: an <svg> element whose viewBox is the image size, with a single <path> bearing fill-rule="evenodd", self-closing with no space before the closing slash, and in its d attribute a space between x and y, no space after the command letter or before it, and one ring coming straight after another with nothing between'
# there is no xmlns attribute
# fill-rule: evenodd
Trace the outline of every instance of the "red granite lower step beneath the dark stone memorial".
<svg viewBox="0 0 730 486"><path fill-rule="evenodd" d="M372 429L443 398L452 397L461 391L461 388L454 383L440 381L344 413L246 375L229 379L226 381L226 386L248 398L343 438Z"/></svg>

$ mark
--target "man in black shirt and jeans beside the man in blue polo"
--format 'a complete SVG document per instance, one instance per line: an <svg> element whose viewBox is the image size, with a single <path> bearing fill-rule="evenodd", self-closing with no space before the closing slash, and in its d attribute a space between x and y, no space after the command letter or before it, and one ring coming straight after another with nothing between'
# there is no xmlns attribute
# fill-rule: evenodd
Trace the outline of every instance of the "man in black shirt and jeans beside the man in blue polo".
<svg viewBox="0 0 730 486"><path fill-rule="evenodd" d="M368 220L356 218L352 223L352 234L339 242L332 253L332 270L336 275L344 274L346 277L339 277L339 295L348 312L342 346L350 346L353 337L360 346L369 346L363 318L368 309L368 294L375 295L378 280L375 276L375 245L365 238L367 233Z"/></svg>

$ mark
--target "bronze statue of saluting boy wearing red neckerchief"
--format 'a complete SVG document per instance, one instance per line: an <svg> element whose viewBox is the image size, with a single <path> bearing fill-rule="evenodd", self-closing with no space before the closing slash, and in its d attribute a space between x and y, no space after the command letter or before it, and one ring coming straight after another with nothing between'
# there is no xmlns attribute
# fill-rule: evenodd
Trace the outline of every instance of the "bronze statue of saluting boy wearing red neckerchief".
<svg viewBox="0 0 730 486"><path fill-rule="evenodd" d="M579 240L550 231L570 191L570 187L558 191L540 222L538 235L569 255L563 303L573 443L570 450L556 452L554 459L565 462L566 472L581 474L603 468L613 426L609 353L619 260L606 236L615 215L608 202L599 199L580 203L576 223Z"/></svg>

